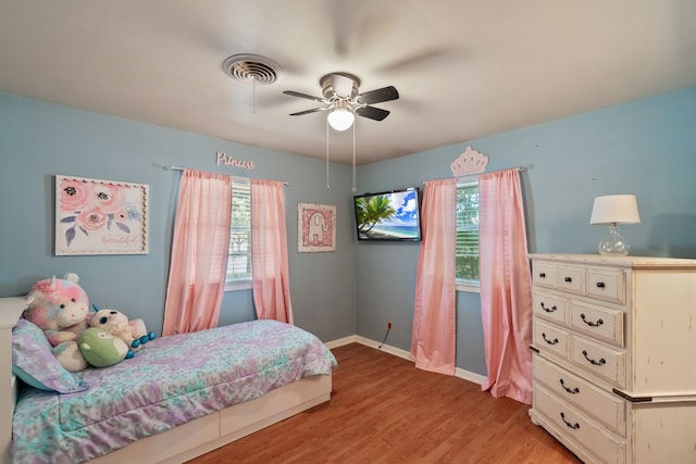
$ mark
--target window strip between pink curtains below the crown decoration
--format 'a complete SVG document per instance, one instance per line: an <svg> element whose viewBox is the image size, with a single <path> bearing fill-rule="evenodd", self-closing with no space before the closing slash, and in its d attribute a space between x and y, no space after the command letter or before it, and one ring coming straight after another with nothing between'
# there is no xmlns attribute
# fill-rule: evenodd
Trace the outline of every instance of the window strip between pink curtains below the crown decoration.
<svg viewBox="0 0 696 464"><path fill-rule="evenodd" d="M457 186L456 277L458 284L478 286L478 183Z"/></svg>

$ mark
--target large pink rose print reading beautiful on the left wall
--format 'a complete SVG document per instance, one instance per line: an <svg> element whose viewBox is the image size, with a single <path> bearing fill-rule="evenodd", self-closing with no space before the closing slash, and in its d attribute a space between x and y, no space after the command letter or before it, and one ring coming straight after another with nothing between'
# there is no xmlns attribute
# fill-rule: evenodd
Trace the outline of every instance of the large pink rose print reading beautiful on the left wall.
<svg viewBox="0 0 696 464"><path fill-rule="evenodd" d="M55 176L55 254L147 254L148 186Z"/></svg>

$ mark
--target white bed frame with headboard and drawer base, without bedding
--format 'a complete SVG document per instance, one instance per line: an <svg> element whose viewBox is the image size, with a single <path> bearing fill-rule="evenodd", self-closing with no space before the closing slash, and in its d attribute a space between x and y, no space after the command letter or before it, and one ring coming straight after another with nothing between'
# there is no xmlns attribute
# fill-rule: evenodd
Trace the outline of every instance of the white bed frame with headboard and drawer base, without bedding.
<svg viewBox="0 0 696 464"><path fill-rule="evenodd" d="M17 389L17 380L12 375L12 327L25 305L24 298L0 298L0 383L10 386L12 393L0 397L0 417L5 417L0 423L0 464L10 464L12 413ZM90 463L184 463L328 401L331 388L331 375L303 378L263 397L136 441Z"/></svg>

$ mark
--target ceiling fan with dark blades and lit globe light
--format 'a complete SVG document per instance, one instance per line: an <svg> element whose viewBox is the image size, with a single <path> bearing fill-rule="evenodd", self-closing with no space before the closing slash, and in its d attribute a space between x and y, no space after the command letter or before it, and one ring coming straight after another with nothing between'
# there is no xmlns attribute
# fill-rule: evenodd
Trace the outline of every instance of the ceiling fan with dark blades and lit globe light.
<svg viewBox="0 0 696 464"><path fill-rule="evenodd" d="M371 106L371 104L399 98L399 92L394 86L359 93L360 79L348 73L326 74L319 80L319 84L322 87L323 98L295 90L285 90L283 92L293 97L324 103L324 106L291 113L290 116L328 111L330 113L326 116L328 124L336 130L346 130L352 125L356 114L374 121L384 120L389 115L389 112L381 108Z"/></svg>

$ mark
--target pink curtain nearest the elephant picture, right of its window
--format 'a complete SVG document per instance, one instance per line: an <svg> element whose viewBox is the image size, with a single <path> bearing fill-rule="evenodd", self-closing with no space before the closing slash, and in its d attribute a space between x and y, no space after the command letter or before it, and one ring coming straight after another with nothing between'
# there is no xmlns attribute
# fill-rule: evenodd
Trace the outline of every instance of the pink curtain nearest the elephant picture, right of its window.
<svg viewBox="0 0 696 464"><path fill-rule="evenodd" d="M257 316L293 324L283 183L251 179L251 268Z"/></svg>

